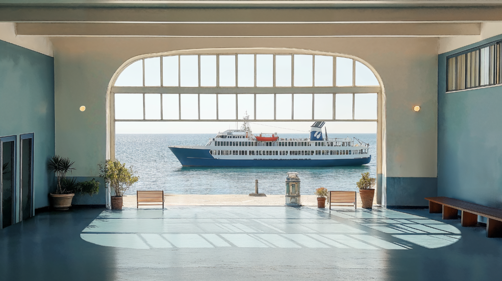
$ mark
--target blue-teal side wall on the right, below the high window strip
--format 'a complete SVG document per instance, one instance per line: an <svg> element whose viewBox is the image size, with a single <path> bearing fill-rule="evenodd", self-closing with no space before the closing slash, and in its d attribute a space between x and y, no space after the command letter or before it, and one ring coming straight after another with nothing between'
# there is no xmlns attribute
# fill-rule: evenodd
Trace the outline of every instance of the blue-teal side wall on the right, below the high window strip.
<svg viewBox="0 0 502 281"><path fill-rule="evenodd" d="M438 195L502 208L502 86L446 94L446 57L439 55Z"/></svg>

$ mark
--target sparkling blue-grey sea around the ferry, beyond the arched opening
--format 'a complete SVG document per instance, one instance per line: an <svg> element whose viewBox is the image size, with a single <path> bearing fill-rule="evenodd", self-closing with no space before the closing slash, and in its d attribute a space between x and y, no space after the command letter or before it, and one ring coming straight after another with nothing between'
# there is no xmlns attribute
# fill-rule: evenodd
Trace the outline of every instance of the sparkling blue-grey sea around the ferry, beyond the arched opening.
<svg viewBox="0 0 502 281"><path fill-rule="evenodd" d="M318 187L328 190L357 190L361 173L376 177L376 134L329 134L356 137L369 143L371 162L356 167L322 168L201 168L182 167L170 145L205 145L214 134L116 134L115 158L133 165L140 180L126 194L136 190L164 190L169 194L284 194L286 172L298 172L302 194L314 194ZM279 134L281 138L306 138L308 134Z"/></svg>

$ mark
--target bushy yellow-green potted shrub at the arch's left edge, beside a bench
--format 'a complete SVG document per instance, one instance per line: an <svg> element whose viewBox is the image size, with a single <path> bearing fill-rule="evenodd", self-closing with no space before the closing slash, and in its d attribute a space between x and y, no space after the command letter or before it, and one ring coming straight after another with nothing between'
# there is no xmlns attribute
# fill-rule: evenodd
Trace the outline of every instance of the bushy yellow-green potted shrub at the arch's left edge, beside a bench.
<svg viewBox="0 0 502 281"><path fill-rule="evenodd" d="M104 165L98 165L101 171L99 176L102 177L108 187L113 188L115 192L115 195L111 196L111 209L121 210L122 196L140 179L140 177L134 175L136 172L133 170L133 166L126 168L126 163L122 164L118 160L106 160Z"/></svg>

